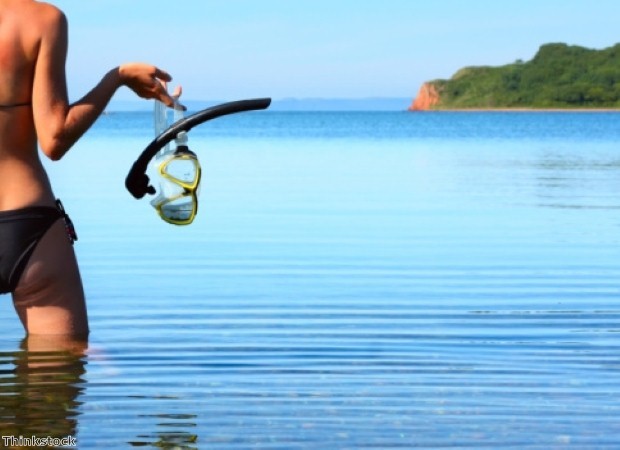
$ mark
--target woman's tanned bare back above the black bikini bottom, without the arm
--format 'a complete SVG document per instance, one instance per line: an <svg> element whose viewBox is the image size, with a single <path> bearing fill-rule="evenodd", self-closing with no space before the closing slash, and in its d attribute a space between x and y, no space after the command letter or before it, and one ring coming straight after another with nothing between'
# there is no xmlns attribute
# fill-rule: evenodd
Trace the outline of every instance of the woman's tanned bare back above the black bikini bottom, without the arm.
<svg viewBox="0 0 620 450"><path fill-rule="evenodd" d="M54 204L30 104L38 8L32 0L0 0L0 211Z"/></svg>

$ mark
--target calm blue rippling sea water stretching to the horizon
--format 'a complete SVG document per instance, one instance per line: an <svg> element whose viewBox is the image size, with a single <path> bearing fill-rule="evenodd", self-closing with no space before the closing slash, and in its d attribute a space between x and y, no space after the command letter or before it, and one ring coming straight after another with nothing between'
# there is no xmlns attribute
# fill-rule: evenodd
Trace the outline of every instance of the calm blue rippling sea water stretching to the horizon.
<svg viewBox="0 0 620 450"><path fill-rule="evenodd" d="M46 163L92 333L22 342L1 298L3 436L620 446L620 114L221 118L188 227L124 189L152 137L112 112Z"/></svg>

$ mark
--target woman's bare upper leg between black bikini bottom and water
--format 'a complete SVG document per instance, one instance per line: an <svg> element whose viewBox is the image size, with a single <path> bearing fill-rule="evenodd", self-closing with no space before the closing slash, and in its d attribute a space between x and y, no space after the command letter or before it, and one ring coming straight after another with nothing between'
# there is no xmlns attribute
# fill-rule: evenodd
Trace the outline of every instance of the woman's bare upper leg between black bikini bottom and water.
<svg viewBox="0 0 620 450"><path fill-rule="evenodd" d="M30 335L88 334L82 280L62 220L37 244L13 292L13 304Z"/></svg>

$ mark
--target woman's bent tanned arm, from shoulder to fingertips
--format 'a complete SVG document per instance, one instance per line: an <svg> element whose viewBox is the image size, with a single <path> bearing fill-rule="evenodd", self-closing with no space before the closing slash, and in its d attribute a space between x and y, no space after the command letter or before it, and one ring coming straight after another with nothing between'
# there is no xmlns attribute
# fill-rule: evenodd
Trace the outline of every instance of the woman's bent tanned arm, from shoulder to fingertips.
<svg viewBox="0 0 620 450"><path fill-rule="evenodd" d="M155 98L168 106L173 100L161 81L166 72L140 63L110 70L82 99L69 105L65 63L68 26L64 14L45 5L42 37L35 66L32 107L41 150L58 160L92 126L120 86L127 86L143 98Z"/></svg>

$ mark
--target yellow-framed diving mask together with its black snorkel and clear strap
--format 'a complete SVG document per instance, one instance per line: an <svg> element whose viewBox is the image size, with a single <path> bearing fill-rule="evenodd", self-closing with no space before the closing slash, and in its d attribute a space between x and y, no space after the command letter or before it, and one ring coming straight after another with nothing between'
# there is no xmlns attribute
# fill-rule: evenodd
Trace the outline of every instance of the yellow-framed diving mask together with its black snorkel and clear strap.
<svg viewBox="0 0 620 450"><path fill-rule="evenodd" d="M189 225L198 212L201 168L198 157L187 143L187 133L196 125L228 114L266 109L271 99L240 100L223 103L183 117L175 108L174 123L168 126L166 107L155 103L154 119L156 138L144 149L131 167L125 186L135 198L155 195L151 205L159 216L174 225ZM170 148L174 140L175 148ZM150 164L149 164L150 163ZM150 177L157 188L150 184Z"/></svg>

